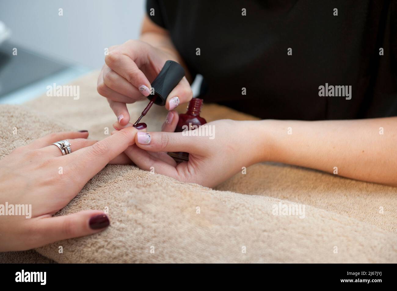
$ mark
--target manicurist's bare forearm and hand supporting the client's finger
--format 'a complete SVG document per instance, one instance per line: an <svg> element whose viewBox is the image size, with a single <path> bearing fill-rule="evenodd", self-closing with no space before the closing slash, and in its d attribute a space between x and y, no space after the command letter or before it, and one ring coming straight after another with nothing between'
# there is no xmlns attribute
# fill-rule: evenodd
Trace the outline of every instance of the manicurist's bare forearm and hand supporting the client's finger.
<svg viewBox="0 0 397 291"><path fill-rule="evenodd" d="M125 153L142 169L153 166L157 173L205 186L224 181L243 166L272 161L397 187L397 117L219 120L206 124L214 125L212 140L172 133L177 120L177 113L169 112L162 128L168 133L137 135L136 145ZM189 162L177 165L166 154L175 151L189 152ZM118 162L126 163L125 158Z"/></svg>

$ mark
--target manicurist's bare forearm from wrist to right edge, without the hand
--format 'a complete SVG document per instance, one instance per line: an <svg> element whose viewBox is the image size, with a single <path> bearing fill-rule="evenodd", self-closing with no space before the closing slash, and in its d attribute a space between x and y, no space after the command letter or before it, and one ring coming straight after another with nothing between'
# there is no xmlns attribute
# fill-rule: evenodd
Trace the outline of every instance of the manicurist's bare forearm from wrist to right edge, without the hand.
<svg viewBox="0 0 397 291"><path fill-rule="evenodd" d="M259 123L262 160L397 186L397 117Z"/></svg>

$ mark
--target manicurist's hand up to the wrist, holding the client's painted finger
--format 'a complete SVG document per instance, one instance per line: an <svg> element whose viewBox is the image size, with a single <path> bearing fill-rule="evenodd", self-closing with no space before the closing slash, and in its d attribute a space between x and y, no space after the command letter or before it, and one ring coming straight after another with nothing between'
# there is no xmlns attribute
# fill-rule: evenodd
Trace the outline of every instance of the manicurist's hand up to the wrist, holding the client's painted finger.
<svg viewBox="0 0 397 291"><path fill-rule="evenodd" d="M172 114L172 116L170 116ZM163 131L173 131L177 112L169 112ZM171 120L171 121L170 121ZM198 136L200 129L187 132L141 132L135 145L125 150L141 169L173 177L179 181L212 187L261 160L266 149L256 136L255 121L218 120L205 124L212 127L212 137ZM208 127L209 129L209 127ZM203 132L201 132L203 133ZM166 152L189 152L189 161L177 164Z"/></svg>

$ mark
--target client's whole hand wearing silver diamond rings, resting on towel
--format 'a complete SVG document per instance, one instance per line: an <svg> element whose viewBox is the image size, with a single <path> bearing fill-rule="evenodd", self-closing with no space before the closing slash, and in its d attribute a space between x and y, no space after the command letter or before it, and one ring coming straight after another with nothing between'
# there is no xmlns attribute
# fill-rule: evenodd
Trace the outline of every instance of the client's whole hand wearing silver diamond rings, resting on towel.
<svg viewBox="0 0 397 291"><path fill-rule="evenodd" d="M109 219L100 210L52 215L106 164L119 160L135 143L137 131L128 127L98 142L86 139L88 132L52 133L0 160L0 251L32 249L104 230ZM52 143L66 139L71 153L65 148L63 155L62 146Z"/></svg>

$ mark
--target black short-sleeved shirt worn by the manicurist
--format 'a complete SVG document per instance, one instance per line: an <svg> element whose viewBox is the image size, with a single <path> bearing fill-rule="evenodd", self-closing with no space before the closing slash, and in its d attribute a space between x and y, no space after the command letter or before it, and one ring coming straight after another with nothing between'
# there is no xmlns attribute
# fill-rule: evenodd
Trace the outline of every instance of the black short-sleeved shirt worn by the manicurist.
<svg viewBox="0 0 397 291"><path fill-rule="evenodd" d="M397 115L397 0L148 0L146 10L204 77L206 103L272 119ZM351 86L351 99L320 97L326 83Z"/></svg>

